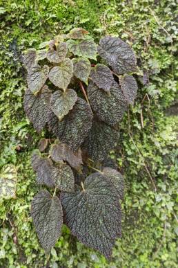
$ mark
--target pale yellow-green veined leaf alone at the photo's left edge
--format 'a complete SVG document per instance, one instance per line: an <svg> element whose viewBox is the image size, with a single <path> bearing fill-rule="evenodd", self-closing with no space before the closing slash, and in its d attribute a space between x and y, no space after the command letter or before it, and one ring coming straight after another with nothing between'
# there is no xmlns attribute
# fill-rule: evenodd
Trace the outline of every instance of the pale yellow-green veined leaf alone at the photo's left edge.
<svg viewBox="0 0 178 268"><path fill-rule="evenodd" d="M14 198L16 184L17 170L15 166L11 164L3 166L0 173L0 199Z"/></svg>

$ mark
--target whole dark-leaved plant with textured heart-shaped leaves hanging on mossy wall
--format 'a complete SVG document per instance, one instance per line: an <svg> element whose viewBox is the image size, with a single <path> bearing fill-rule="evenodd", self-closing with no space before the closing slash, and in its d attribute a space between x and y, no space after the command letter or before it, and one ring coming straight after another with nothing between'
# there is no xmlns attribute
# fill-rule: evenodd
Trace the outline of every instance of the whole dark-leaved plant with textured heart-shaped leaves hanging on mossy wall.
<svg viewBox="0 0 178 268"><path fill-rule="evenodd" d="M28 49L23 63L26 115L37 132L48 125L52 133L32 153L37 184L45 186L31 206L41 246L49 253L64 223L110 258L121 236L124 182L107 157L137 96L135 53L118 37L102 37L97 46L87 30L74 28Z"/></svg>

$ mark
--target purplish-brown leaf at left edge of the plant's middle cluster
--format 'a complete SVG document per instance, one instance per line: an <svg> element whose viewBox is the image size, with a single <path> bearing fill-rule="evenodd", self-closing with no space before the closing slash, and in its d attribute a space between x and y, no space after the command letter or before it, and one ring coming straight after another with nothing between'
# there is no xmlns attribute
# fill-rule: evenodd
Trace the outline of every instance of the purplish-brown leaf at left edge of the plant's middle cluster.
<svg viewBox="0 0 178 268"><path fill-rule="evenodd" d="M38 150L32 153L32 168L37 173L37 183L54 188L55 182L52 178L52 161L47 157L41 157Z"/></svg>

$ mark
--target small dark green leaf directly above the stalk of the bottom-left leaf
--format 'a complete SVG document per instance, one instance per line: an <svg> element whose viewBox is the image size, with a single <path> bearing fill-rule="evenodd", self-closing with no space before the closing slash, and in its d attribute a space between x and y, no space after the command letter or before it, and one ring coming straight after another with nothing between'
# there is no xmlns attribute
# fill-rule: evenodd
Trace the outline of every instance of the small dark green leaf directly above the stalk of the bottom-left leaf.
<svg viewBox="0 0 178 268"><path fill-rule="evenodd" d="M53 168L52 179L55 186L63 192L72 192L75 186L75 178L70 166L63 164L58 168Z"/></svg>

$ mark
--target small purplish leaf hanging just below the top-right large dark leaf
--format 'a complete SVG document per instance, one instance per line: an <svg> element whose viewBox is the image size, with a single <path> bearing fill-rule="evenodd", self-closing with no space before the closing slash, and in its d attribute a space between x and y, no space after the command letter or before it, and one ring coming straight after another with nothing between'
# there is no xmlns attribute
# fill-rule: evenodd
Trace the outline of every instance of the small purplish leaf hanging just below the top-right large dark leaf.
<svg viewBox="0 0 178 268"><path fill-rule="evenodd" d="M132 75L119 75L119 84L128 103L133 104L138 89L135 78Z"/></svg>

